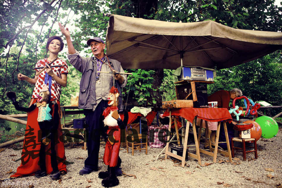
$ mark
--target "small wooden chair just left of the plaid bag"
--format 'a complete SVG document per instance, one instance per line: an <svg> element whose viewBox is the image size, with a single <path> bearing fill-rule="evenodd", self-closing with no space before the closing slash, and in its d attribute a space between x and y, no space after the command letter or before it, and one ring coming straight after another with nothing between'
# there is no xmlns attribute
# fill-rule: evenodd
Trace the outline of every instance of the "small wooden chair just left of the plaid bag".
<svg viewBox="0 0 282 188"><path fill-rule="evenodd" d="M146 142L141 143L141 139L145 140ZM131 144L132 146L128 146L129 144ZM144 145L144 148L141 148L141 146ZM145 146L146 145L146 146ZM134 149L134 146L136 147L136 149ZM126 135L126 152L128 153L128 148L132 149L132 156L134 155L134 150L141 150L142 149L146 149L146 154L148 151L148 137L147 135L143 135L143 134L133 134L133 135Z"/></svg>

